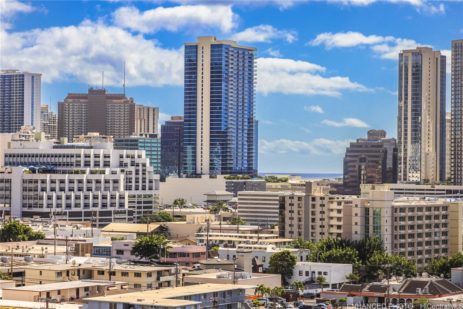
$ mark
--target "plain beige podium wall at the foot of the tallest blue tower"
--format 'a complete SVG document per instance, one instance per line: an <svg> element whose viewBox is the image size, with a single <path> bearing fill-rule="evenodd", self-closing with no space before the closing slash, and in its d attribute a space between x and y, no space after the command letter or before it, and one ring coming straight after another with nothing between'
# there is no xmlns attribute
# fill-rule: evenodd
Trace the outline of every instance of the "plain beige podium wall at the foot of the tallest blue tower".
<svg viewBox="0 0 463 309"><path fill-rule="evenodd" d="M209 178L209 175L202 175L201 178L168 177L166 182L161 182L159 186L160 202L164 205L171 205L178 198L187 200L187 203L203 205L206 204L205 193L225 190L225 179L223 175L217 175L216 179Z"/></svg>

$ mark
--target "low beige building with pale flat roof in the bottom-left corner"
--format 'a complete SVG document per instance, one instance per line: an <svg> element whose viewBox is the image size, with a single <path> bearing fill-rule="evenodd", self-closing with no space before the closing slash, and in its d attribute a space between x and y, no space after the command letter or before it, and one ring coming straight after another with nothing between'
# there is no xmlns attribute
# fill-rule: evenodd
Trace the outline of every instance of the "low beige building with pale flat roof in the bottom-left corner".
<svg viewBox="0 0 463 309"><path fill-rule="evenodd" d="M58 302L69 302L75 299L90 296L96 293L110 290L122 290L128 288L128 282L78 280L69 282L57 282L47 284L26 285L21 287L2 287L3 299L20 300L26 302L38 302L45 299Z"/></svg>

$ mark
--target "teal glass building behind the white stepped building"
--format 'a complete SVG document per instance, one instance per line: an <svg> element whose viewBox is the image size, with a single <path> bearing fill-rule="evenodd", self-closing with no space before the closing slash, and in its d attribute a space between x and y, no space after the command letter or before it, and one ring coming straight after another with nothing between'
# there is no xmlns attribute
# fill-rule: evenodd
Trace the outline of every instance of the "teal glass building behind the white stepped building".
<svg viewBox="0 0 463 309"><path fill-rule="evenodd" d="M161 139L158 137L126 136L114 138L115 146L124 146L128 150L144 150L146 158L155 174L161 172Z"/></svg>

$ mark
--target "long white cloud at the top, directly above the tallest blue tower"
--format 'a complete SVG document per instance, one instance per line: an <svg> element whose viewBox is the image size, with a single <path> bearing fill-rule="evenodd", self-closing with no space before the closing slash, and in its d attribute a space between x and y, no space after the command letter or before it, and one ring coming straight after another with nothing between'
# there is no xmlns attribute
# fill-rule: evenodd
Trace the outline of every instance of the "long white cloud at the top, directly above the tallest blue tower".
<svg viewBox="0 0 463 309"><path fill-rule="evenodd" d="M114 24L142 33L176 32L196 26L218 27L230 32L236 26L237 17L232 6L224 5L158 6L143 12L134 6L123 6L113 13Z"/></svg>

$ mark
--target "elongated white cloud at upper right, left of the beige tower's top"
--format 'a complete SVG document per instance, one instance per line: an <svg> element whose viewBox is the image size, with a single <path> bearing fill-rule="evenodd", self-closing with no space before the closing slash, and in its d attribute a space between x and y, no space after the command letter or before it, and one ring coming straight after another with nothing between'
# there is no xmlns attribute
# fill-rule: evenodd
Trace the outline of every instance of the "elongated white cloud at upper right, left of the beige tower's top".
<svg viewBox="0 0 463 309"><path fill-rule="evenodd" d="M357 45L371 45L375 43L380 43L383 41L388 41L394 39L393 37L383 38L377 35L365 36L360 32L324 32L317 35L317 37L309 42L306 45L325 45L326 49L332 49L333 47L351 47Z"/></svg>

